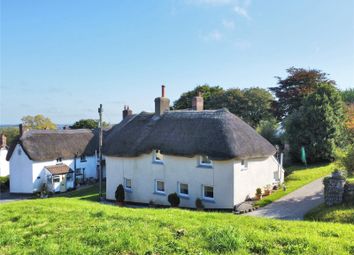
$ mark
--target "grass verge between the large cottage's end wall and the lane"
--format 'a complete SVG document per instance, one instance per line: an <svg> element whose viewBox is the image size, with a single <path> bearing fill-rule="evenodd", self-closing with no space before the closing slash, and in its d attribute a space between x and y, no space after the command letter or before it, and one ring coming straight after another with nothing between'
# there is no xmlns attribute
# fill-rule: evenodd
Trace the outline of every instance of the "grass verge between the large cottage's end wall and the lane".
<svg viewBox="0 0 354 255"><path fill-rule="evenodd" d="M293 192L294 190L317 180L318 178L329 175L334 170L334 164L312 165L307 168L304 166L292 166L288 167L287 170L290 170L291 174L285 177L286 191L283 191L282 189L277 190L273 194L258 201L256 205L265 206L270 204L290 192Z"/></svg>

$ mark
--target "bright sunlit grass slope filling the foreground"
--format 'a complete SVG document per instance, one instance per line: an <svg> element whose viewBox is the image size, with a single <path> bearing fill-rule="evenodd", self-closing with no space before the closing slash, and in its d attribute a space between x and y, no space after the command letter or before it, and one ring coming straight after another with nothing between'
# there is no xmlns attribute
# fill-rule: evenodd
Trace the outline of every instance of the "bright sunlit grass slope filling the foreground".
<svg viewBox="0 0 354 255"><path fill-rule="evenodd" d="M353 254L354 226L76 198L0 205L0 254Z"/></svg>

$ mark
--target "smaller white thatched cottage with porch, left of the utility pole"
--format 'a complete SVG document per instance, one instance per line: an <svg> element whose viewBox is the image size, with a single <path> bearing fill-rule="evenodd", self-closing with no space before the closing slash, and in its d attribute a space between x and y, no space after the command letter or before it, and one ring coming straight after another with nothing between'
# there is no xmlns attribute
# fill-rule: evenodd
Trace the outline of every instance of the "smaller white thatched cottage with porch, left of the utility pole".
<svg viewBox="0 0 354 255"><path fill-rule="evenodd" d="M96 179L98 132L77 130L30 130L22 132L7 156L10 192L33 193L43 183L54 192L74 188L88 178Z"/></svg>

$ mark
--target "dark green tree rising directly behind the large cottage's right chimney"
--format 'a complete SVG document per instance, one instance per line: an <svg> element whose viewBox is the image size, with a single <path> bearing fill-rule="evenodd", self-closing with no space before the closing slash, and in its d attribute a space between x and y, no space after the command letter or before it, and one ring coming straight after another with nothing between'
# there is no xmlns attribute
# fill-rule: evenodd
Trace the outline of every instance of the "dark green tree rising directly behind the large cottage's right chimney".
<svg viewBox="0 0 354 255"><path fill-rule="evenodd" d="M182 110L192 108L192 99L198 95L198 92L203 94L204 108L211 109L209 103L210 98L216 94L223 93L224 89L219 86L211 87L208 84L197 86L193 90L183 93L180 98L173 103L173 109Z"/></svg>

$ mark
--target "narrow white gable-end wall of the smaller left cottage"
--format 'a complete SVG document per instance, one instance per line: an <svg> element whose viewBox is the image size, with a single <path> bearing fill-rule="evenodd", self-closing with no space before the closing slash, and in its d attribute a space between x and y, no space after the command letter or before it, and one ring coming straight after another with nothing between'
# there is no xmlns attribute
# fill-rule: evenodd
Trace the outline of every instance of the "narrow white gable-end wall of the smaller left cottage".
<svg viewBox="0 0 354 255"><path fill-rule="evenodd" d="M10 192L33 192L32 160L27 157L19 144L16 145L10 159Z"/></svg>

